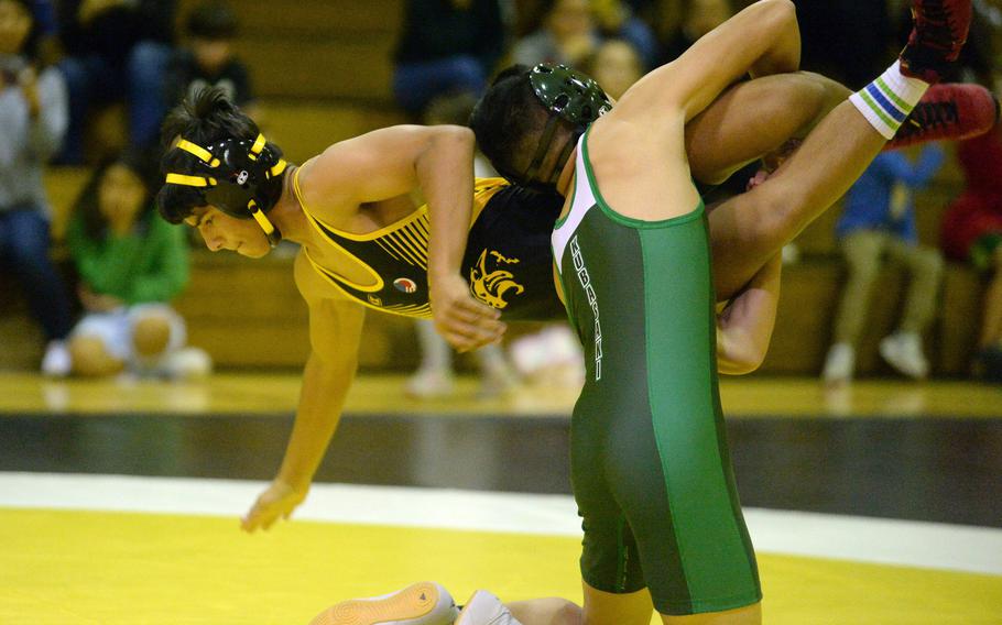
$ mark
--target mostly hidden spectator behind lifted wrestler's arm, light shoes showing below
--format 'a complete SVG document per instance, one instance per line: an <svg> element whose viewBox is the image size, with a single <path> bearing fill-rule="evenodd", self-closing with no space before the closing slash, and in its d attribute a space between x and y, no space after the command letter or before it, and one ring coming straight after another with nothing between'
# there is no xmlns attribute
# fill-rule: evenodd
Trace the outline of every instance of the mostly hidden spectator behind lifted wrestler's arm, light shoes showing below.
<svg viewBox="0 0 1002 625"><path fill-rule="evenodd" d="M469 94L439 96L425 109L422 122L426 125L466 125L477 98ZM473 157L473 175L478 178L497 176L487 160L477 154ZM453 348L435 330L431 319L415 319L421 363L404 387L411 397L428 399L450 395L455 388ZM504 358L504 351L497 344L484 346L475 352L480 368L481 397L497 397L515 387L518 376Z"/></svg>

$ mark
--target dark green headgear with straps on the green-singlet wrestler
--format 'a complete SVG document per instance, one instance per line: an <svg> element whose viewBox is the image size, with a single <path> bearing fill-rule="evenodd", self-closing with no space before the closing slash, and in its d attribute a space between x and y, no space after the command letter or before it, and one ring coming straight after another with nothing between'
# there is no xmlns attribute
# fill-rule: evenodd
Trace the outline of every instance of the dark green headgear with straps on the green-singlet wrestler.
<svg viewBox="0 0 1002 625"><path fill-rule="evenodd" d="M598 83L566 65L541 63L529 70L529 80L533 92L549 112L549 119L546 120L546 125L543 128L543 135L540 138L536 153L533 155L529 168L515 178L527 180L532 186L552 189L578 139L591 122L609 112L612 102L609 101L609 97L598 86ZM549 151L549 144L553 142L557 120L568 122L573 127L573 132L560 151L557 166L549 179L538 180L536 176L543 165L543 158Z"/></svg>

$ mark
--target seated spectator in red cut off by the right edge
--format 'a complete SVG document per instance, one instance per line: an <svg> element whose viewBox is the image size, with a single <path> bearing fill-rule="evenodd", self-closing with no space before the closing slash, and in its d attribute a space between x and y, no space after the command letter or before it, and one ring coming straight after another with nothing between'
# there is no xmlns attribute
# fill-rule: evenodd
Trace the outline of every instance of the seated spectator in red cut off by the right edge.
<svg viewBox="0 0 1002 625"><path fill-rule="evenodd" d="M967 188L943 220L943 250L990 276L984 294L974 373L1002 382L1002 125L960 142Z"/></svg>

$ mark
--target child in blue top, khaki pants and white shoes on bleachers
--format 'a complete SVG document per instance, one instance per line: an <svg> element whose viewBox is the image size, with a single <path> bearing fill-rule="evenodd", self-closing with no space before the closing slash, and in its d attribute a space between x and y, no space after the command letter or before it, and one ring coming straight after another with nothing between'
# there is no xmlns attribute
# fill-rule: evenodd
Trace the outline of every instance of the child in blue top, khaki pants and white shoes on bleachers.
<svg viewBox="0 0 1002 625"><path fill-rule="evenodd" d="M880 342L880 354L908 377L928 375L922 333L936 310L943 257L938 250L918 244L913 195L941 164L943 151L936 145L924 147L914 163L902 153L884 152L849 190L836 226L849 277L835 317L835 342L825 361L826 383L852 380L856 343L884 257L906 265L911 279L901 322Z"/></svg>

